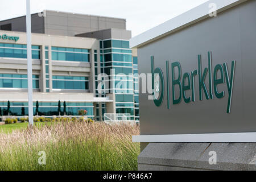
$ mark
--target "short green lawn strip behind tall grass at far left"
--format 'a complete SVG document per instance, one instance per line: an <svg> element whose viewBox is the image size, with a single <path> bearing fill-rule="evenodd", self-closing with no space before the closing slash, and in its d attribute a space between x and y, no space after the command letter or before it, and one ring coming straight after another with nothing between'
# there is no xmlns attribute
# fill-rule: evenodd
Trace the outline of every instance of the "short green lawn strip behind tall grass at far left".
<svg viewBox="0 0 256 182"><path fill-rule="evenodd" d="M46 122L36 122L34 124L35 124L35 126L40 127L40 126L46 125ZM13 130L26 129L27 126L28 126L28 122L0 125L0 132L11 133L11 132L13 132Z"/></svg>

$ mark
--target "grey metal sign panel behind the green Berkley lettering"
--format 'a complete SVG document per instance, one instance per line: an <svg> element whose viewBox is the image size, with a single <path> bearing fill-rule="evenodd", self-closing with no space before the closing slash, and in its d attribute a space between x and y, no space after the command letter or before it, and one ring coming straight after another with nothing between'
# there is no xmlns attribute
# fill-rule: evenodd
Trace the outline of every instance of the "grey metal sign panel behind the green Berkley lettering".
<svg viewBox="0 0 256 182"><path fill-rule="evenodd" d="M148 100L148 94L139 94L141 135L254 133L256 136L255 7L256 1L241 3L218 13L217 17L201 20L138 47L139 73L151 73L150 61L154 56L154 66L162 70L164 77L164 96L160 106ZM204 71L208 68L208 51L212 52L212 71L217 64L226 63L230 75L232 61L236 61L230 113L226 113L229 90L225 83L218 85L218 90L224 91L224 97L214 95L213 99L207 100L202 91L203 100L200 101L199 75L195 77L195 102L185 103L182 98L179 104L172 104L171 64L179 61L183 76L185 72L198 70L197 55L201 55ZM170 67L170 109L167 106L167 60ZM179 77L177 72L174 77ZM210 85L208 73L204 82ZM207 89L209 93L209 86ZM175 92L179 93L177 86ZM186 93L191 96L189 90Z"/></svg>

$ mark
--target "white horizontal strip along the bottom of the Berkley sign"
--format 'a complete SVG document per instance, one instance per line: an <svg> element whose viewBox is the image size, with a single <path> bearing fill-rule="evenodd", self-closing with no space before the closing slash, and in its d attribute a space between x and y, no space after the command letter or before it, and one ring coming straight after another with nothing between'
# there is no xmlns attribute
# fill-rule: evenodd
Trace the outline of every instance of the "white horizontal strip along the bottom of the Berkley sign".
<svg viewBox="0 0 256 182"><path fill-rule="evenodd" d="M133 142L256 142L256 132L137 135L133 136Z"/></svg>

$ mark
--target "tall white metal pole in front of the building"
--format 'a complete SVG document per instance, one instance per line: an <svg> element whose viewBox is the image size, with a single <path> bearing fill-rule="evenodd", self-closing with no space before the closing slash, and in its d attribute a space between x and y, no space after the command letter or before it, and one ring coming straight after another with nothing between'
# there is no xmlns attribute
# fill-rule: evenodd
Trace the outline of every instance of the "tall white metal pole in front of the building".
<svg viewBox="0 0 256 182"><path fill-rule="evenodd" d="M31 14L30 0L27 0L27 83L28 83L28 122L33 125L33 87L32 87L32 51L31 51Z"/></svg>

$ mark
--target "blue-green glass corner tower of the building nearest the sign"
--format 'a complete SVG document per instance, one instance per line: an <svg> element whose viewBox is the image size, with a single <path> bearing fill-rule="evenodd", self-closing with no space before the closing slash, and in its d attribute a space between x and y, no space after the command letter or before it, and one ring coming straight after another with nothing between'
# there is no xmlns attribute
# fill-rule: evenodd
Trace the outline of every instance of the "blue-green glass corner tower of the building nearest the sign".
<svg viewBox="0 0 256 182"><path fill-rule="evenodd" d="M134 119L133 57L129 41L101 40L100 45L101 71L109 75L109 88L105 91L115 94L117 114L128 113Z"/></svg>

